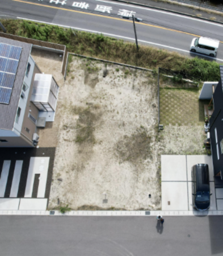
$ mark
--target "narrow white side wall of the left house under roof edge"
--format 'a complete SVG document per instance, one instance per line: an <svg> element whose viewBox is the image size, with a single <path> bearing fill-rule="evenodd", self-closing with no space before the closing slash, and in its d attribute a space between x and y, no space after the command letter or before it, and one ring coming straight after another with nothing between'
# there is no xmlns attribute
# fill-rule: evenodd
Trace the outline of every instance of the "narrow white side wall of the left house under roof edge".
<svg viewBox="0 0 223 256"><path fill-rule="evenodd" d="M22 130L22 124L23 124L23 118L24 118L24 114L25 114L25 110L26 110L26 105L27 105L27 101L28 101L28 95L30 92L30 88L31 88L31 82L32 82L32 75L33 75L33 69L35 67L35 61L32 59L32 56L30 55L29 59L28 59L28 63L30 63L31 67L30 67L30 72L28 73L28 75L24 77L24 82L23 84L26 84L28 86L28 89L24 92L24 90L22 89L21 93L24 93L24 98L20 97L19 100L19 108L21 109L20 112L20 116L17 119L18 122L16 122L15 119L15 123L14 123L14 131L16 133L20 133ZM27 65L28 65L27 63Z"/></svg>

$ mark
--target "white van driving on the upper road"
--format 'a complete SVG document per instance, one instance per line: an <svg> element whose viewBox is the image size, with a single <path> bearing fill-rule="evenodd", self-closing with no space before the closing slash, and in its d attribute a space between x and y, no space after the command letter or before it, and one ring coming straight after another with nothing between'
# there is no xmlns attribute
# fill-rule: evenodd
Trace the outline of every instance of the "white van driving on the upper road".
<svg viewBox="0 0 223 256"><path fill-rule="evenodd" d="M191 42L191 52L200 52L215 57L220 41L211 38L193 38Z"/></svg>

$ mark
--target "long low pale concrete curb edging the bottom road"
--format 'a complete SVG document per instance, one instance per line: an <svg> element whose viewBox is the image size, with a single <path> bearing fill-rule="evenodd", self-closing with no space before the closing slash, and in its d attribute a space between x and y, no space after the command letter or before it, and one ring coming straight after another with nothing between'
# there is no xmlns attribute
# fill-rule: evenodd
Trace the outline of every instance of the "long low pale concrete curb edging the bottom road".
<svg viewBox="0 0 223 256"><path fill-rule="evenodd" d="M1 210L0 215L28 215L28 216L136 216L136 217L155 217L162 216L213 216L223 215L222 210L209 210L207 212L197 211L159 211L159 210L71 210L64 214L58 210Z"/></svg>

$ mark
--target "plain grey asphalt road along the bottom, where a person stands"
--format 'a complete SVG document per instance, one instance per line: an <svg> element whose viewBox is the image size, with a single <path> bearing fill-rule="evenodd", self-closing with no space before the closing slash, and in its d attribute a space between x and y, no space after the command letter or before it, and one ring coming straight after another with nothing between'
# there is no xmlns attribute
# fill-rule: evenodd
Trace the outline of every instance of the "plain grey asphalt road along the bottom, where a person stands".
<svg viewBox="0 0 223 256"><path fill-rule="evenodd" d="M223 216L0 216L0 254L7 256L223 255Z"/></svg>

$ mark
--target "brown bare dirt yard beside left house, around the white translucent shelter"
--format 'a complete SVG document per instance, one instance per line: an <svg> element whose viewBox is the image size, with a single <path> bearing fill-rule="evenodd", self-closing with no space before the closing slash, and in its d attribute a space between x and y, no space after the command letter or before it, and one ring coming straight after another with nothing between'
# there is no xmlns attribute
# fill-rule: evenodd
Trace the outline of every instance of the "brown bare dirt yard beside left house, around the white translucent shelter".
<svg viewBox="0 0 223 256"><path fill-rule="evenodd" d="M64 85L64 77L61 73L62 57L59 53L43 51L32 48L31 55L36 61L38 67L45 74L53 75L57 84L62 88ZM39 147L56 147L57 146L57 134L58 123L60 122L60 112L56 112L54 122L47 122L44 129L38 129L37 133L40 135Z"/></svg>

